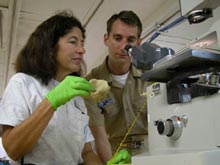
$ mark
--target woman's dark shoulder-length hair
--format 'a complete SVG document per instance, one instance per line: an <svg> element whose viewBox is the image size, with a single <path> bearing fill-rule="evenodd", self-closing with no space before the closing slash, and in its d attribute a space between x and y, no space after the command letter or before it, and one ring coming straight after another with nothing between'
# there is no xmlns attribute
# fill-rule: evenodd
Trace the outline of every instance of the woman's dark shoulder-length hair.
<svg viewBox="0 0 220 165"><path fill-rule="evenodd" d="M47 85L56 74L57 43L61 37L78 27L85 39L85 29L71 11L62 11L41 23L19 52L15 71L39 78Z"/></svg>

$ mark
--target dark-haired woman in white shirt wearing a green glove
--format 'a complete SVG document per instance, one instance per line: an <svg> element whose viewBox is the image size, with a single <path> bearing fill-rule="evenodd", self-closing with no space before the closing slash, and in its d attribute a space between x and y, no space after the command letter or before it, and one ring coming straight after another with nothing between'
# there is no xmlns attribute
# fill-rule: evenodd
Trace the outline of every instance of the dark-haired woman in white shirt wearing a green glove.
<svg viewBox="0 0 220 165"><path fill-rule="evenodd" d="M101 164L81 97L93 86L73 76L80 73L84 39L78 19L62 12L40 24L19 53L0 105L3 146L14 162Z"/></svg>

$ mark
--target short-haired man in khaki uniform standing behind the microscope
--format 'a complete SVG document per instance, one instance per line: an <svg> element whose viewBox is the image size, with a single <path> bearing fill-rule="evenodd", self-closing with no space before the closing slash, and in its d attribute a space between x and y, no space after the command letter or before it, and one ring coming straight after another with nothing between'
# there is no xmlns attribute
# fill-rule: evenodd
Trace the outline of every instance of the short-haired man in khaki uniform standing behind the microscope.
<svg viewBox="0 0 220 165"><path fill-rule="evenodd" d="M99 106L86 100L96 152L105 163L112 158L146 101L142 93L146 91L147 82L140 80L142 73L132 66L131 58L124 50L127 44L140 45L141 32L142 23L133 11L112 15L107 21L107 33L104 35L109 54L100 66L86 76L88 80L104 79L111 87L108 96L99 102ZM147 133L145 106L124 148L132 155L137 154L147 146L143 144Z"/></svg>

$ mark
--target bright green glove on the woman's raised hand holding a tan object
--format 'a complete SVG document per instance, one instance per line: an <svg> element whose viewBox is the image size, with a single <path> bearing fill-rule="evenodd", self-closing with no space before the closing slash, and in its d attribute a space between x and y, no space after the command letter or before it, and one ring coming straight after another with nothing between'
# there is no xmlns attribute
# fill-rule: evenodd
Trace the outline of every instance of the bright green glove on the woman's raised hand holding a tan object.
<svg viewBox="0 0 220 165"><path fill-rule="evenodd" d="M56 110L75 96L89 96L93 90L93 86L86 79L78 76L67 76L47 94L46 98Z"/></svg>

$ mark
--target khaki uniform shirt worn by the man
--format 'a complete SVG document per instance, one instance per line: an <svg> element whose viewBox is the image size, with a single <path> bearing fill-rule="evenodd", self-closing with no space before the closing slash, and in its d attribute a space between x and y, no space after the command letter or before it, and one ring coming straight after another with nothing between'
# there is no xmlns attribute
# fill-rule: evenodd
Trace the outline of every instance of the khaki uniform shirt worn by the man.
<svg viewBox="0 0 220 165"><path fill-rule="evenodd" d="M94 68L86 76L88 80L104 79L111 87L106 99L112 99L113 103L105 105L102 110L91 100L85 100L85 102L90 117L90 126L105 126L113 152L118 148L141 109L143 111L126 141L144 140L144 136L148 134L147 104L143 107L146 96L141 95L146 92L149 83L140 79L141 74L142 72L131 66L125 86L123 88L113 86L106 58L100 66Z"/></svg>

